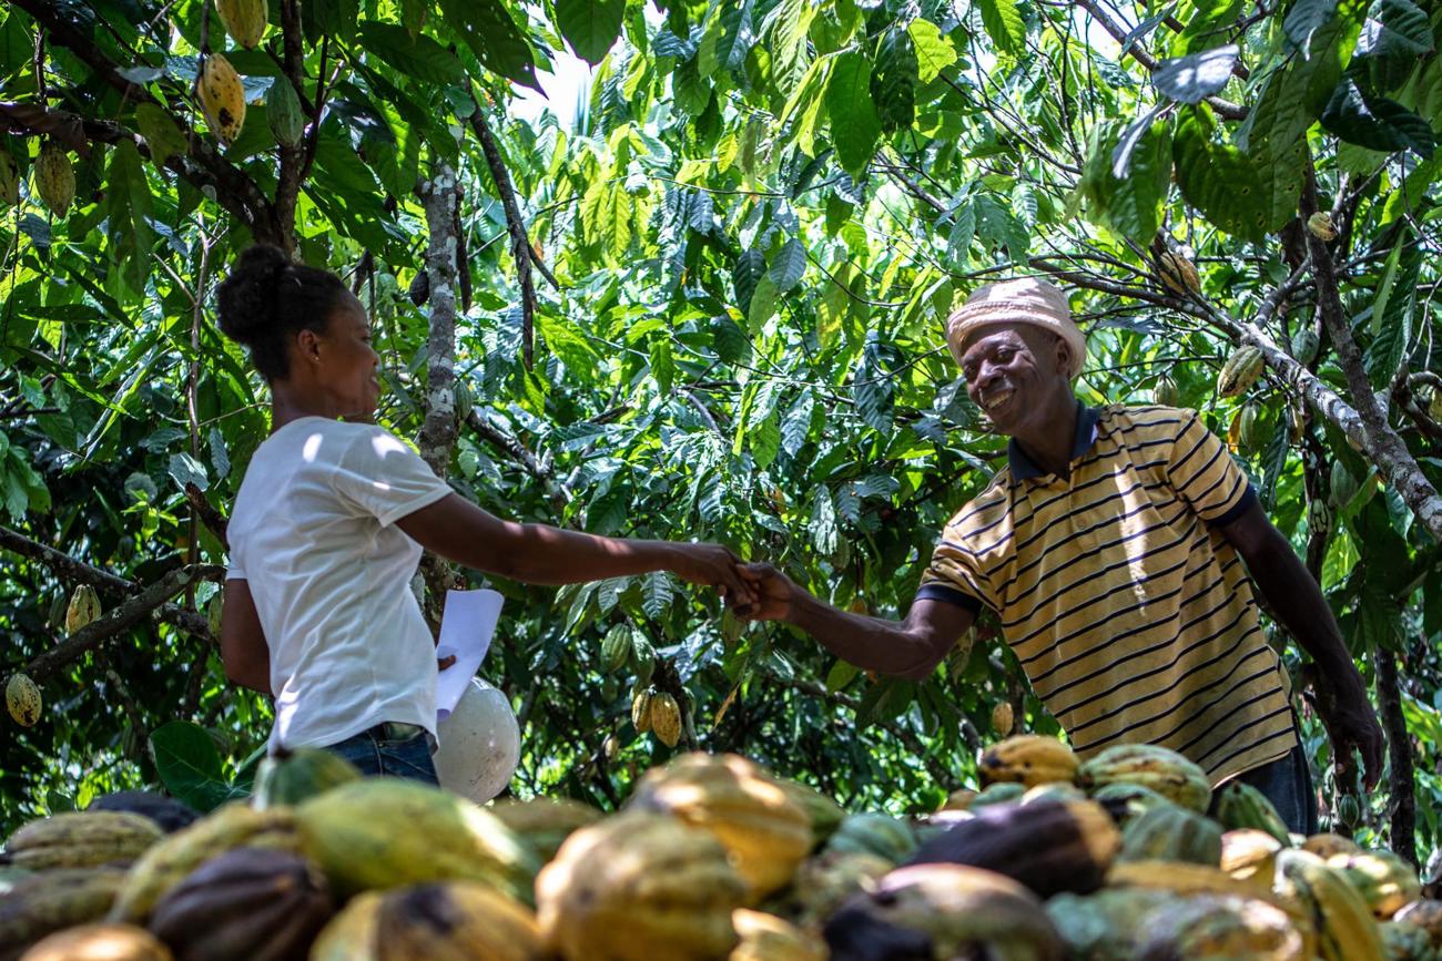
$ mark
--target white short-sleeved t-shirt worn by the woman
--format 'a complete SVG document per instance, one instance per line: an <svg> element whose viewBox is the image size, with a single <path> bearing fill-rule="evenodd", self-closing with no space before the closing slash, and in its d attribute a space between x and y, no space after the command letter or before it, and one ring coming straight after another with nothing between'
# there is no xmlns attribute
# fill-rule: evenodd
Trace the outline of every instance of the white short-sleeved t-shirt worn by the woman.
<svg viewBox="0 0 1442 961"><path fill-rule="evenodd" d="M421 546L394 526L451 493L389 431L306 416L251 458L228 578L249 582L275 694L271 746L398 720L435 733L435 645L411 594Z"/></svg>

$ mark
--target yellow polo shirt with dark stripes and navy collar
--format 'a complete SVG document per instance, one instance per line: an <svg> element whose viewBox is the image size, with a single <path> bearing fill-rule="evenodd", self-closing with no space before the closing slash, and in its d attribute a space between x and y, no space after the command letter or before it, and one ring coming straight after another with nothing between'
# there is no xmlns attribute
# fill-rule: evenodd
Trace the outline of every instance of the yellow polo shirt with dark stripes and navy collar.
<svg viewBox="0 0 1442 961"><path fill-rule="evenodd" d="M1194 411L1082 408L1071 474L1011 442L919 598L985 604L1082 756L1158 743L1214 784L1296 745L1289 684L1220 527L1256 499Z"/></svg>

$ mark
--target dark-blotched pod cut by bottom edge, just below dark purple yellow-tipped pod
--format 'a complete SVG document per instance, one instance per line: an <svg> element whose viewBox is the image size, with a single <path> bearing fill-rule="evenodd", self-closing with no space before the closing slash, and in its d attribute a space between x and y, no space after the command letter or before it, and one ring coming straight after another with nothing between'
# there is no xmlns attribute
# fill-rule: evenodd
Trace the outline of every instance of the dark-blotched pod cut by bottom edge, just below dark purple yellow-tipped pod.
<svg viewBox="0 0 1442 961"><path fill-rule="evenodd" d="M832 961L1060 961L1066 951L1035 895L1009 877L962 864L900 867L848 899L823 932Z"/></svg>

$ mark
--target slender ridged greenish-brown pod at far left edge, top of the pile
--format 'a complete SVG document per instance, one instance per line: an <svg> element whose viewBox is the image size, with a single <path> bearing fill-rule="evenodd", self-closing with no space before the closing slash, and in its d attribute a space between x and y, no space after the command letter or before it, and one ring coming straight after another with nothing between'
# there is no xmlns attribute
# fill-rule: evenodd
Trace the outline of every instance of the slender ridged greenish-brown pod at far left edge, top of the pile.
<svg viewBox="0 0 1442 961"><path fill-rule="evenodd" d="M125 811L66 811L20 827L6 841L16 867L97 867L134 860L164 837L149 817Z"/></svg>

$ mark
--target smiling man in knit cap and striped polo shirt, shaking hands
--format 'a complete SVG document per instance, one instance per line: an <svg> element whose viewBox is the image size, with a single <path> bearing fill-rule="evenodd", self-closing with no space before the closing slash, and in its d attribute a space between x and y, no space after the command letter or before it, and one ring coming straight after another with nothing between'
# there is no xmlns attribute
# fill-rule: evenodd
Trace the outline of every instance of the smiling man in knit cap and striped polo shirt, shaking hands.
<svg viewBox="0 0 1442 961"><path fill-rule="evenodd" d="M784 620L842 658L930 676L982 605L1083 758L1158 743L1220 784L1240 777L1295 831L1317 805L1286 673L1253 585L1317 660L1335 756L1381 768L1381 729L1317 582L1194 411L1086 408L1086 339L1038 280L979 288L947 321L966 390L1008 462L946 526L904 621L839 611L769 565L754 620ZM1249 576L1250 575L1250 576Z"/></svg>

